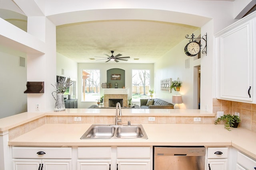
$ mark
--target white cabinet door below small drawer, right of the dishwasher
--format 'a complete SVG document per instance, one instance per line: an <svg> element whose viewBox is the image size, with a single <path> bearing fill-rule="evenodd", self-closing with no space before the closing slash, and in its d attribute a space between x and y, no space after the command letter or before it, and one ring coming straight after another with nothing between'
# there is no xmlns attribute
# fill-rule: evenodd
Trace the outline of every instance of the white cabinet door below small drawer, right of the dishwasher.
<svg viewBox="0 0 256 170"><path fill-rule="evenodd" d="M206 170L228 170L228 159L208 159Z"/></svg>

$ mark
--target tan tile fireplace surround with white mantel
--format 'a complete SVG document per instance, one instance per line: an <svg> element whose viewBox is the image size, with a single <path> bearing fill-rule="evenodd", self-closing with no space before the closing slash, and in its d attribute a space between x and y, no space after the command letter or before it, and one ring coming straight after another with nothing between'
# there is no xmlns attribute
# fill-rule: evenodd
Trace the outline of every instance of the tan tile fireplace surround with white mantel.
<svg viewBox="0 0 256 170"><path fill-rule="evenodd" d="M128 107L128 93L126 88L104 89L104 107L109 106L109 99L123 99L123 107Z"/></svg>

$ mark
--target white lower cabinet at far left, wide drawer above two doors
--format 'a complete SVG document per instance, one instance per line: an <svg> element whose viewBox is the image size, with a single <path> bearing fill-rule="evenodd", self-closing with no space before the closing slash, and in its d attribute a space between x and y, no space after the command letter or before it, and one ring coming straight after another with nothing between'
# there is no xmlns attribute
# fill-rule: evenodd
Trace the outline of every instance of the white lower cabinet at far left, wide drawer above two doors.
<svg viewBox="0 0 256 170"><path fill-rule="evenodd" d="M72 170L71 150L71 148L12 147L12 170Z"/></svg>

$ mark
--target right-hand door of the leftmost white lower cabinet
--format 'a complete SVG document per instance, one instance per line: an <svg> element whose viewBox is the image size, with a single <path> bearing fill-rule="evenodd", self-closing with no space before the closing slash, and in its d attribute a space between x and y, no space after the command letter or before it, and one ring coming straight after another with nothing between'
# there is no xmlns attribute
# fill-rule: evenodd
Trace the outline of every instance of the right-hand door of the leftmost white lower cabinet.
<svg viewBox="0 0 256 170"><path fill-rule="evenodd" d="M72 170L71 159L43 159L42 170Z"/></svg>

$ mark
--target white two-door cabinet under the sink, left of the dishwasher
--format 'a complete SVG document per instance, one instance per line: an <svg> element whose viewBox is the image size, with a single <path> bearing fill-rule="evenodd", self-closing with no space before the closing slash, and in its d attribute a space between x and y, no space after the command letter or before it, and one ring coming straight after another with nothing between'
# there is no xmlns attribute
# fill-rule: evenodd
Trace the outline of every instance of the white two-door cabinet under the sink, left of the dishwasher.
<svg viewBox="0 0 256 170"><path fill-rule="evenodd" d="M78 147L77 170L150 170L150 147Z"/></svg>

